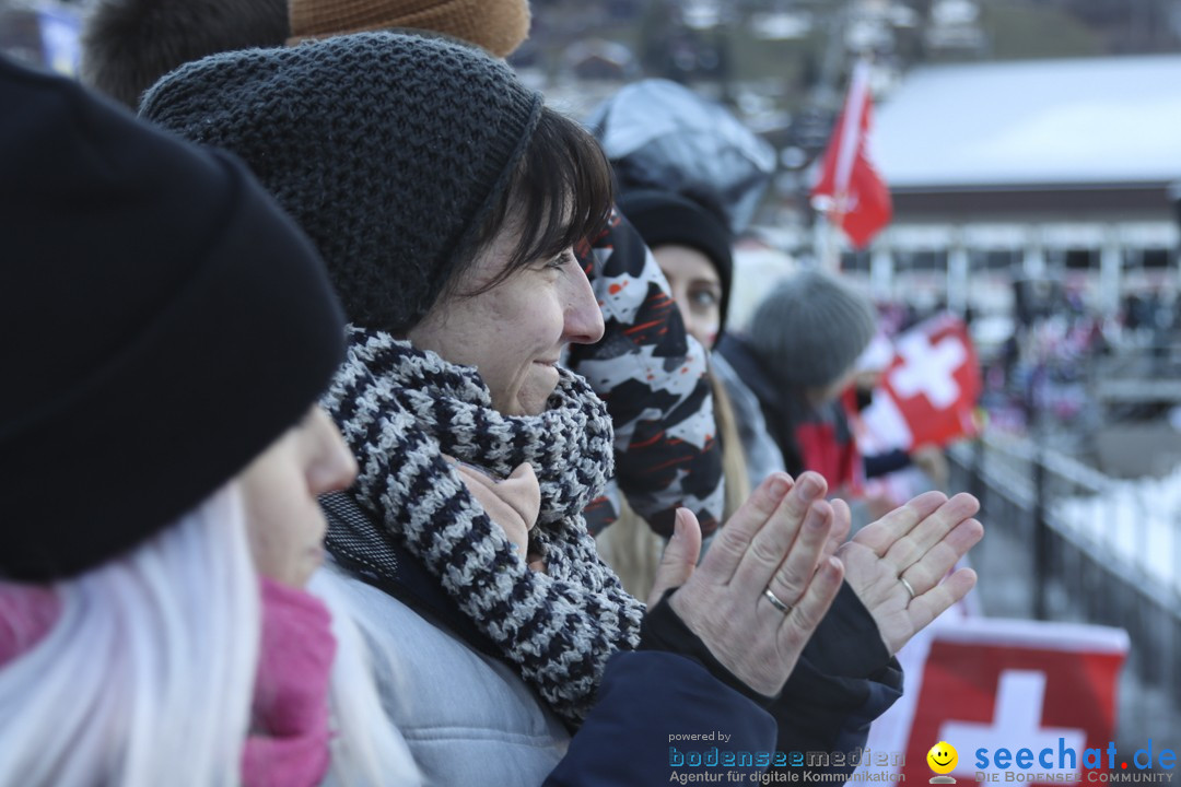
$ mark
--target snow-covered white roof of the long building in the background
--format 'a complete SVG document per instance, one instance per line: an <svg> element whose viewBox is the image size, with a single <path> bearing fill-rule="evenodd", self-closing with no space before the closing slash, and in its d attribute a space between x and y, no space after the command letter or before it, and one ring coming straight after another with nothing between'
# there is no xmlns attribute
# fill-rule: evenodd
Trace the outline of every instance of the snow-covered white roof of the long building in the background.
<svg viewBox="0 0 1181 787"><path fill-rule="evenodd" d="M1181 55L920 67L876 107L890 188L1181 178Z"/></svg>

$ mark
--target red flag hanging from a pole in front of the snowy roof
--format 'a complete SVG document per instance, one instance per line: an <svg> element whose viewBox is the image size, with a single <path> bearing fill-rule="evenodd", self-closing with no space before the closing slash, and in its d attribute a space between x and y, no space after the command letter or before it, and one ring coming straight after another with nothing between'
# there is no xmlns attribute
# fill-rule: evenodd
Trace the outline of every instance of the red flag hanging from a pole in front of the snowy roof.
<svg viewBox="0 0 1181 787"><path fill-rule="evenodd" d="M813 205L843 229L859 249L869 244L894 212L886 182L866 151L872 109L869 63L860 60L824 151L820 182L811 192Z"/></svg>

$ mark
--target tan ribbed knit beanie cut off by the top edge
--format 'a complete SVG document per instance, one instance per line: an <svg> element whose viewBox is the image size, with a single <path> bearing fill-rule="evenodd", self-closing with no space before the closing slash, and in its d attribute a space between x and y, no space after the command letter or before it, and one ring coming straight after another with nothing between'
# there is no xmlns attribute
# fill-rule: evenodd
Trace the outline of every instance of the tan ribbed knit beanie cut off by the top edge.
<svg viewBox="0 0 1181 787"><path fill-rule="evenodd" d="M529 0L291 0L288 44L410 28L444 33L507 58L529 38Z"/></svg>

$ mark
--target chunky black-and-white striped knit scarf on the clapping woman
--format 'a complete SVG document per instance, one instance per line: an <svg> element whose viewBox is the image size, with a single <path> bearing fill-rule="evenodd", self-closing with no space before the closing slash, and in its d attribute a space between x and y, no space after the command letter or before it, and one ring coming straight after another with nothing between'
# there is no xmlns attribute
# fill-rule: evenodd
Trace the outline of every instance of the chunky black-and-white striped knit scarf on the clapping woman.
<svg viewBox="0 0 1181 787"><path fill-rule="evenodd" d="M638 645L644 615L599 559L582 519L613 470L602 401L560 369L546 412L502 415L475 368L351 328L324 405L358 457L358 504L423 562L560 716L581 721L609 656ZM541 514L530 551L543 555L544 573L526 566L443 454L501 478L533 465Z"/></svg>

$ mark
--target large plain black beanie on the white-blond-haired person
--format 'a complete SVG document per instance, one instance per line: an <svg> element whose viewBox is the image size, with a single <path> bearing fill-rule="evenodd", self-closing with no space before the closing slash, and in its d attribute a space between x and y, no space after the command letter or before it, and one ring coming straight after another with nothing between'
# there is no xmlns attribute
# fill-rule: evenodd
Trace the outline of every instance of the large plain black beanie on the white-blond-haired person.
<svg viewBox="0 0 1181 787"><path fill-rule="evenodd" d="M236 476L344 358L315 251L229 157L0 58L0 577L77 575Z"/></svg>

